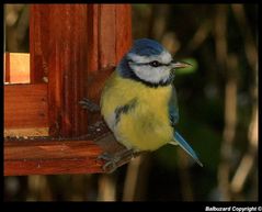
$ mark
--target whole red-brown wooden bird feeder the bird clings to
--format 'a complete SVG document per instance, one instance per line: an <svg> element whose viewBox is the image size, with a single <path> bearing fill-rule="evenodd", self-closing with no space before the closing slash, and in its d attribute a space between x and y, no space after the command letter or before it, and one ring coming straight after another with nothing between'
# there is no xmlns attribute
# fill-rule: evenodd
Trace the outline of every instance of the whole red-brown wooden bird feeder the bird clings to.
<svg viewBox="0 0 262 212"><path fill-rule="evenodd" d="M30 54L4 54L4 176L102 172L104 81L132 42L129 4L31 4Z"/></svg>

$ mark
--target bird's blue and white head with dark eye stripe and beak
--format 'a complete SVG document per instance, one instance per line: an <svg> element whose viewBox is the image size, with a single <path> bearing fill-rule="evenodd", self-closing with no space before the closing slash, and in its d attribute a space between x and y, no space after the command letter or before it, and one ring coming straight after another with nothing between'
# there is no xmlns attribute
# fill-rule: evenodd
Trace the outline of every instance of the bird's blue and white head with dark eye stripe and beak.
<svg viewBox="0 0 262 212"><path fill-rule="evenodd" d="M172 69L189 66L186 63L173 60L171 54L158 42L141 38L135 41L117 70L123 77L156 87L171 83Z"/></svg>

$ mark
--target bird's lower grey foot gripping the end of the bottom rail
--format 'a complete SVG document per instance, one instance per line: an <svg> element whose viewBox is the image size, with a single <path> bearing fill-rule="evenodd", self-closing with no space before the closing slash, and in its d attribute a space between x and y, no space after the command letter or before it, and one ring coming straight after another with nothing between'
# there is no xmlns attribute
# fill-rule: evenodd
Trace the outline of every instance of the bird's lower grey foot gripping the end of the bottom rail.
<svg viewBox="0 0 262 212"><path fill-rule="evenodd" d="M106 163L103 165L102 169L105 172L113 172L115 169L121 167L122 165L128 163L134 157L133 149L124 149L114 155L109 153L103 153L99 156L99 159L103 159Z"/></svg>

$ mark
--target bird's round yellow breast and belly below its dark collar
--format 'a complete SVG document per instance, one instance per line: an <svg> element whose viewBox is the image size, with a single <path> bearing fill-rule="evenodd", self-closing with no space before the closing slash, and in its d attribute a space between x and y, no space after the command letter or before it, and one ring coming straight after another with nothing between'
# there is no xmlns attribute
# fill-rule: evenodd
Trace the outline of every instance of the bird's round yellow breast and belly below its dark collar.
<svg viewBox="0 0 262 212"><path fill-rule="evenodd" d="M150 88L121 78L115 71L101 98L101 112L118 142L128 148L155 150L172 140L168 102L171 86ZM123 113L114 125L115 109L136 99L134 110Z"/></svg>

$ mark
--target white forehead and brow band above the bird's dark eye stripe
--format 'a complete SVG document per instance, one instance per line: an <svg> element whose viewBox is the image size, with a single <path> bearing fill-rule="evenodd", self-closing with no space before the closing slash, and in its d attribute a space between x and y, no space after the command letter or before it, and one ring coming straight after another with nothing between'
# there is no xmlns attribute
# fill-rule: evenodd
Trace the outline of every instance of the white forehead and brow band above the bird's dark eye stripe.
<svg viewBox="0 0 262 212"><path fill-rule="evenodd" d="M128 53L127 57L137 64L144 64L153 60L158 60L162 64L169 64L172 60L172 56L167 51L163 51L160 55L151 55L151 56L140 56L134 53Z"/></svg>

